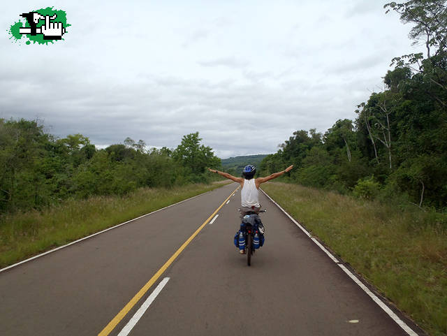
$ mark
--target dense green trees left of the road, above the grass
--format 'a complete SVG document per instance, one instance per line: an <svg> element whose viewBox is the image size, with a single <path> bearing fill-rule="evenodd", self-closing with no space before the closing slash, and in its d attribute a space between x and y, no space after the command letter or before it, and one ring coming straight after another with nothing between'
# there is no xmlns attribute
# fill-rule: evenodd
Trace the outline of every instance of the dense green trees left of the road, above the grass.
<svg viewBox="0 0 447 336"><path fill-rule="evenodd" d="M175 149L146 149L144 141L96 149L74 134L54 138L37 121L0 119L0 212L39 209L66 198L123 195L140 187L207 182L220 166L199 133Z"/></svg>

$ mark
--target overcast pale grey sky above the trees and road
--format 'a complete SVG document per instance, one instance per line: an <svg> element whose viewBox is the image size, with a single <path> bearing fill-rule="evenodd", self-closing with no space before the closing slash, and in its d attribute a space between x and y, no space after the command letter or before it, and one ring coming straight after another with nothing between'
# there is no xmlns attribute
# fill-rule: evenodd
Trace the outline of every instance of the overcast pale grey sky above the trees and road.
<svg viewBox="0 0 447 336"><path fill-rule="evenodd" d="M423 51L386 2L52 1L71 24L65 41L26 45L6 31L49 3L9 1L0 118L101 147L128 136L176 147L199 131L221 158L276 152L293 131L355 119L390 60Z"/></svg>

